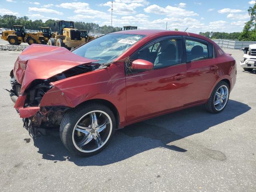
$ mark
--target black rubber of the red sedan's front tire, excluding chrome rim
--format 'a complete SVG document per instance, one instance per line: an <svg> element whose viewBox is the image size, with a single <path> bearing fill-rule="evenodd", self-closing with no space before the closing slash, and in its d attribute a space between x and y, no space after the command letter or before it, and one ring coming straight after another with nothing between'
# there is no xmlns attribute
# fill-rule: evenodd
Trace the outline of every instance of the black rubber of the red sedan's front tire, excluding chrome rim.
<svg viewBox="0 0 256 192"><path fill-rule="evenodd" d="M110 136L108 140L106 140L105 144L101 146L98 150L94 152L82 152L76 148L76 146L73 143L73 130L77 124L77 122L80 120L82 116L85 114L92 112L94 110L100 110L108 114L108 116L111 119L112 122L112 129L108 132L108 135L110 133ZM82 156L82 157L88 157L92 156L94 154L97 154L98 152L102 151L110 142L114 132L116 130L116 120L113 112L105 105L99 104L99 103L88 103L84 104L82 106L79 106L77 108L74 108L70 111L68 111L60 124L60 139L62 140L62 143L64 146L68 149L68 151L76 156Z"/></svg>

